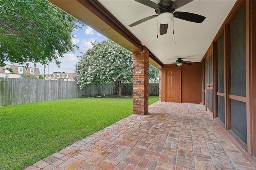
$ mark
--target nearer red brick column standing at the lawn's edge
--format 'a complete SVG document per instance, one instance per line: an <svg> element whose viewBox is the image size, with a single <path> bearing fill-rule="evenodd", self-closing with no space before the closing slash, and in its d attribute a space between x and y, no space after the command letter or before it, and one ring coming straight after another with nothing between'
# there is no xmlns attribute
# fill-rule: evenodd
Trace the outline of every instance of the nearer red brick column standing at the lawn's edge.
<svg viewBox="0 0 256 170"><path fill-rule="evenodd" d="M148 113L148 49L133 54L132 103L133 114Z"/></svg>

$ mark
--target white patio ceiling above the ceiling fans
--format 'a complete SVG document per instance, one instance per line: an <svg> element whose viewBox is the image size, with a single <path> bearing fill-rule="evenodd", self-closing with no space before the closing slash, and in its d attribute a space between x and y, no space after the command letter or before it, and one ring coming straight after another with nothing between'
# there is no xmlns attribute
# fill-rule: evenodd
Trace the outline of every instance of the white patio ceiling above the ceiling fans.
<svg viewBox="0 0 256 170"><path fill-rule="evenodd" d="M152 1L160 2L160 0ZM168 64L176 61L177 58L185 58L192 62L201 61L236 1L194 0L176 11L205 16L204 22L198 24L174 18L174 34L172 21L168 24L167 34L162 36L159 35L156 18L132 28L128 26L137 20L156 14L153 8L134 0L99 0L99 2L162 63Z"/></svg>

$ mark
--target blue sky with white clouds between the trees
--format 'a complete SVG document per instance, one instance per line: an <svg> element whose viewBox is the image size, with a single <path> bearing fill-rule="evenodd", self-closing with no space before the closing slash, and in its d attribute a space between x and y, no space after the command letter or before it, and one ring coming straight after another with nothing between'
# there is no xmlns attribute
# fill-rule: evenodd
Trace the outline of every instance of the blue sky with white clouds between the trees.
<svg viewBox="0 0 256 170"><path fill-rule="evenodd" d="M102 34L96 32L92 28L87 25L82 26L82 30L76 30L73 32L75 38L72 39L73 44L78 45L79 49L74 51L74 53L64 54L64 57L60 57L58 61L60 61L60 67L58 67L55 63L55 60L52 63L49 63L45 68L45 74L51 74L53 72L66 72L72 73L75 71L75 65L79 61L77 56L80 56L80 52L86 52L87 49L92 47L92 42L102 42L103 40L108 40ZM10 64L10 63L6 63ZM29 63L30 67L34 67L33 63ZM14 65L18 65L14 63ZM40 69L40 74L44 74L44 66L40 63L37 63L37 68ZM49 70L49 72L48 72Z"/></svg>

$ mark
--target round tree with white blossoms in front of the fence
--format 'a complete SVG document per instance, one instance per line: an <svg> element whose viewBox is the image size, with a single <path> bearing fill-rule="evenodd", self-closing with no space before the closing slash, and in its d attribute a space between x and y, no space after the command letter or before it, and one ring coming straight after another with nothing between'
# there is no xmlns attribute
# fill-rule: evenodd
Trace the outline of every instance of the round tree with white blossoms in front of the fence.
<svg viewBox="0 0 256 170"><path fill-rule="evenodd" d="M111 40L94 42L92 45L86 53L82 53L76 65L80 88L91 82L112 81L120 97L123 84L132 82L132 53Z"/></svg>

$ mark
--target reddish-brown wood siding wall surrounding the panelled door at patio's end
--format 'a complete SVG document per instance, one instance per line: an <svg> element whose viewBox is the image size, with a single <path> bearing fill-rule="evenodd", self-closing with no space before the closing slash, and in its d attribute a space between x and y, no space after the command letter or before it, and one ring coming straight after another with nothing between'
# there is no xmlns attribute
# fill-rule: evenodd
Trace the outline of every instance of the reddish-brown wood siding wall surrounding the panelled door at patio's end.
<svg viewBox="0 0 256 170"><path fill-rule="evenodd" d="M166 101L166 68L176 64L166 64L162 68L162 101ZM181 102L201 102L201 65L200 62L181 66Z"/></svg>

